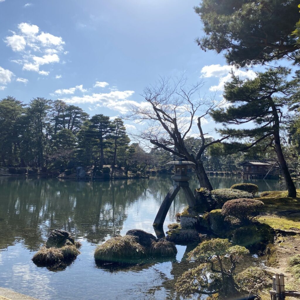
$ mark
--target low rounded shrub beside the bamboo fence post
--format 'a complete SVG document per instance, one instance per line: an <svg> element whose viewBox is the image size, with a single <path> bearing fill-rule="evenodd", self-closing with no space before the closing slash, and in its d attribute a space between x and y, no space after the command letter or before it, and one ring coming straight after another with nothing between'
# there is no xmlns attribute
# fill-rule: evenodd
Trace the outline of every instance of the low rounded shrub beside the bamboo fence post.
<svg viewBox="0 0 300 300"><path fill-rule="evenodd" d="M235 276L235 282L242 289L250 292L259 292L271 287L272 275L258 267L249 267Z"/></svg>

